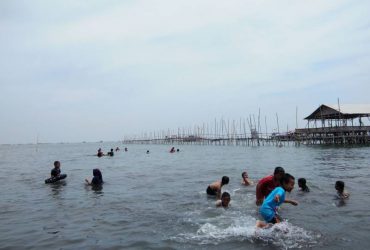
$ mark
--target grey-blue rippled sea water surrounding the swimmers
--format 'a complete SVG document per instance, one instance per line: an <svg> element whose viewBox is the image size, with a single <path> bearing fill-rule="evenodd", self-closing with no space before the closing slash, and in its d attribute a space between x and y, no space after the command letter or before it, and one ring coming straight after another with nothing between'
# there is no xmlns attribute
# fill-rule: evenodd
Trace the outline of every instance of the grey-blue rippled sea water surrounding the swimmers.
<svg viewBox="0 0 370 250"><path fill-rule="evenodd" d="M119 146L114 157L94 156ZM122 149L127 146L128 152ZM171 146L180 152L170 154ZM146 151L150 150L150 154ZM68 177L45 184L53 162ZM255 182L282 166L305 177L286 219L256 229ZM105 184L84 183L92 169ZM228 209L207 186L223 175ZM335 196L343 180L350 198ZM369 249L370 147L123 145L119 142L0 145L0 249Z"/></svg>

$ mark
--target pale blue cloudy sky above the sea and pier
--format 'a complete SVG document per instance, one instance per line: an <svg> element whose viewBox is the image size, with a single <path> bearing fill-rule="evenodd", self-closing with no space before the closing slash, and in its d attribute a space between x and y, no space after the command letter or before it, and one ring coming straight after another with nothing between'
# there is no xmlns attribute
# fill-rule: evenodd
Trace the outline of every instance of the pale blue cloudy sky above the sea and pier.
<svg viewBox="0 0 370 250"><path fill-rule="evenodd" d="M0 143L370 103L370 2L0 1Z"/></svg>

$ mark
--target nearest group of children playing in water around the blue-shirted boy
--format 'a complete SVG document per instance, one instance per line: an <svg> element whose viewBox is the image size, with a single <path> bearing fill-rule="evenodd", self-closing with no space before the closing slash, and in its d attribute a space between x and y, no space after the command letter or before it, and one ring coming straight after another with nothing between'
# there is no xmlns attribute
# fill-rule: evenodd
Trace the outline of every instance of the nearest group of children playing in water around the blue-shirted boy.
<svg viewBox="0 0 370 250"><path fill-rule="evenodd" d="M222 187L229 184L229 177L223 176L221 180L210 184L207 189L207 195L216 197L216 206L227 208L231 201L231 196L228 192L222 192ZM248 177L247 172L242 173L242 185L254 185ZM286 192L290 193L295 184L295 178L289 173L285 173L284 168L276 167L273 175L266 176L256 184L256 205L259 207L259 213L262 220L258 220L256 226L259 228L269 227L282 221L277 213L277 208L283 203L289 203L297 206L295 200L286 199ZM301 192L310 192L305 178L298 179L298 187ZM337 196L340 199L349 198L349 193L345 190L343 181L335 183Z"/></svg>

